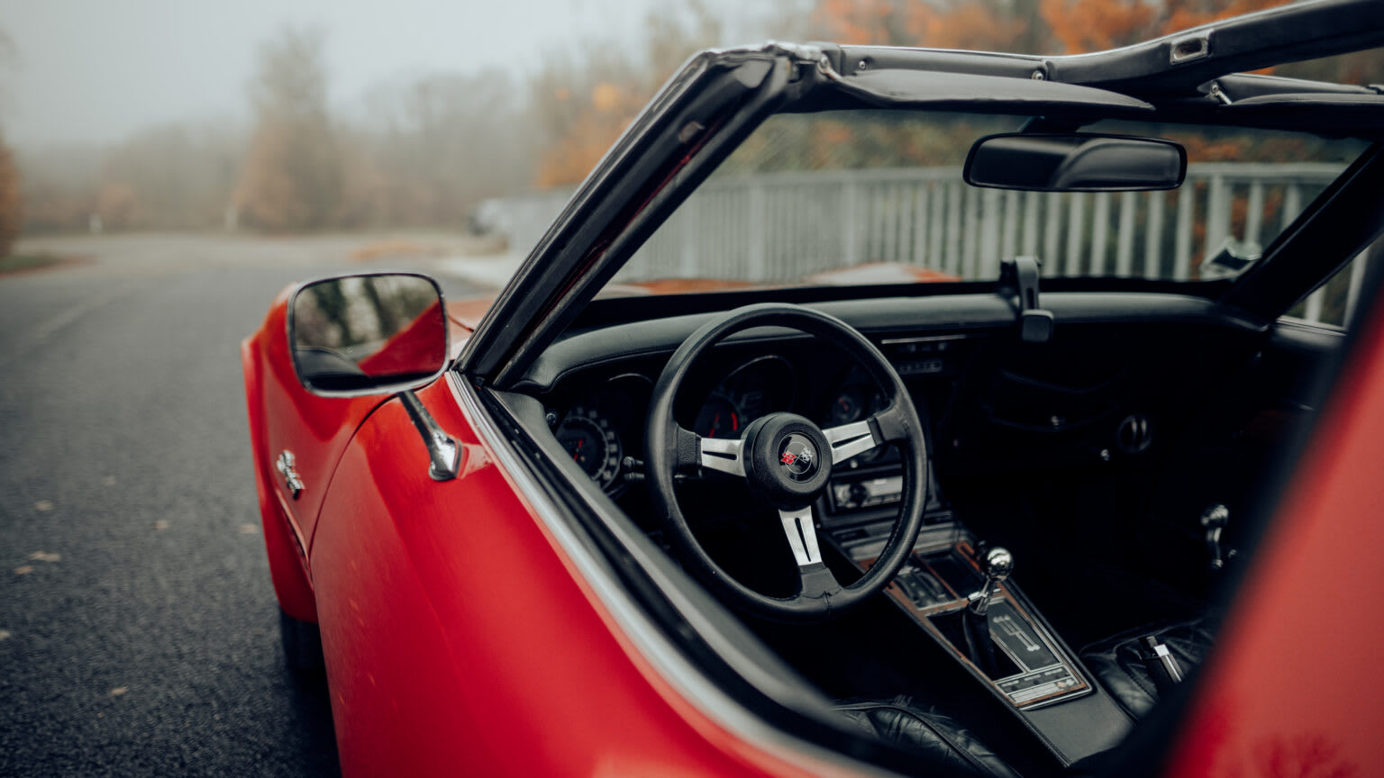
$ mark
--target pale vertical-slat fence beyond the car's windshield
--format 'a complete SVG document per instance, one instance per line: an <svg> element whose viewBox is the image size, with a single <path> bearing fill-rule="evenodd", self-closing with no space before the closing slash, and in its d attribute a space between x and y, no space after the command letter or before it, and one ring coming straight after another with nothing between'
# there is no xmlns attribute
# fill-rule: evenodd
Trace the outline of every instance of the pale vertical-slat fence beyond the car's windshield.
<svg viewBox="0 0 1384 778"><path fill-rule="evenodd" d="M958 168L722 177L699 188L617 278L793 281L889 262L990 280L1013 255L1038 256L1052 275L1201 278L1228 238L1257 253L1342 169L1200 163L1179 190L1096 194L976 188ZM511 246L529 251L569 197L500 201ZM1352 275L1345 309L1363 273ZM1304 318L1323 318L1324 295L1309 298ZM1348 318L1338 309L1331 318Z"/></svg>

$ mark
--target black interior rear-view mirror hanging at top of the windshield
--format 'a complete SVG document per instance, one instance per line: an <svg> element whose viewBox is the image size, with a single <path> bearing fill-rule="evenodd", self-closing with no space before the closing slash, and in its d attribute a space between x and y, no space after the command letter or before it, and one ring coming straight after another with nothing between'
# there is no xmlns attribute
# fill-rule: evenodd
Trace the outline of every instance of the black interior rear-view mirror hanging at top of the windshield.
<svg viewBox="0 0 1384 778"><path fill-rule="evenodd" d="M1009 133L970 147L963 177L976 187L1041 192L1175 190L1187 152L1163 138Z"/></svg>

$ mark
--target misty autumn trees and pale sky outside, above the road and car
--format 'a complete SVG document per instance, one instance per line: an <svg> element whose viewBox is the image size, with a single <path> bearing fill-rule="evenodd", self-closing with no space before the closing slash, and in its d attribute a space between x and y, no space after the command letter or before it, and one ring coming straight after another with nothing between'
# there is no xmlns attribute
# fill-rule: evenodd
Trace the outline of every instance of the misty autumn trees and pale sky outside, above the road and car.
<svg viewBox="0 0 1384 778"><path fill-rule="evenodd" d="M579 183L698 48L1070 54L1275 4L11 0L0 252L19 235L161 230L502 238L504 209L486 201ZM1359 83L1380 54L1289 71Z"/></svg>

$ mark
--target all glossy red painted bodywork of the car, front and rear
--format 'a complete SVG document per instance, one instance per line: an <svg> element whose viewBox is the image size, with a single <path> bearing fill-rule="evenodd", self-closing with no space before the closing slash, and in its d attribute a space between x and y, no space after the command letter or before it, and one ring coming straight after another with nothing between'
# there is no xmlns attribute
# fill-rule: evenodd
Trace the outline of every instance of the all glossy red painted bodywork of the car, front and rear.
<svg viewBox="0 0 1384 778"><path fill-rule="evenodd" d="M428 476L397 400L302 389L286 299L242 343L256 485L280 604L321 627L345 772L843 771L747 742L650 667L475 435L451 378L419 392L462 443L450 482ZM1384 678L1360 671L1384 638L1377 620L1360 619L1381 605L1384 566L1370 548L1351 558L1352 539L1378 536L1370 487L1384 471L1374 435L1384 316L1362 346L1232 610L1168 775L1384 774L1373 705ZM296 501L274 469L284 449L307 483ZM1333 583L1331 595L1304 581Z"/></svg>

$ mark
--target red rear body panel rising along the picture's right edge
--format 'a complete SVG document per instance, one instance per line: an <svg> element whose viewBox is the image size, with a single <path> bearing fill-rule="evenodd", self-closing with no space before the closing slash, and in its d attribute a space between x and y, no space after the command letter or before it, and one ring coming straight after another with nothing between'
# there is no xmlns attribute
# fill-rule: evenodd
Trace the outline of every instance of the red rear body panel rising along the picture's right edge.
<svg viewBox="0 0 1384 778"><path fill-rule="evenodd" d="M1384 775L1384 306L1367 324L1226 620L1167 775Z"/></svg>

